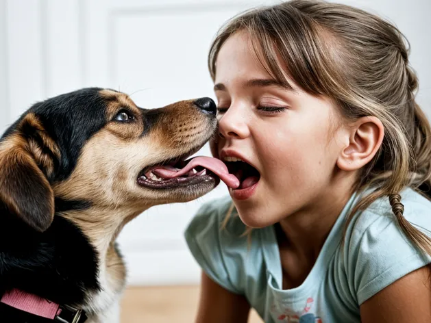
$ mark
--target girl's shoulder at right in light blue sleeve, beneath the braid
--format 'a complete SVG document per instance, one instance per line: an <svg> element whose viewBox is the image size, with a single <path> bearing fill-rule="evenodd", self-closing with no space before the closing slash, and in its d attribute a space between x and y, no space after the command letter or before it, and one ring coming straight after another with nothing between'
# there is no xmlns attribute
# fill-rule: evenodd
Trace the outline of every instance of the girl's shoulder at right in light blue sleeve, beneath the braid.
<svg viewBox="0 0 431 323"><path fill-rule="evenodd" d="M401 194L404 219L431 237L431 201L410 188ZM431 262L402 231L389 198L355 214L346 227L339 259L358 304L402 276Z"/></svg>

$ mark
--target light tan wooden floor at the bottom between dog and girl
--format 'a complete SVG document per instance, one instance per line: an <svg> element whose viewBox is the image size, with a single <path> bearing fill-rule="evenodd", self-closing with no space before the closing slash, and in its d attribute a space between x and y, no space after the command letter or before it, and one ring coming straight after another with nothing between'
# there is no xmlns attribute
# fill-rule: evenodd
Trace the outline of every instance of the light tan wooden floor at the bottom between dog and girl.
<svg viewBox="0 0 431 323"><path fill-rule="evenodd" d="M199 287L130 287L123 296L121 323L193 323ZM251 312L249 323L262 323Z"/></svg>

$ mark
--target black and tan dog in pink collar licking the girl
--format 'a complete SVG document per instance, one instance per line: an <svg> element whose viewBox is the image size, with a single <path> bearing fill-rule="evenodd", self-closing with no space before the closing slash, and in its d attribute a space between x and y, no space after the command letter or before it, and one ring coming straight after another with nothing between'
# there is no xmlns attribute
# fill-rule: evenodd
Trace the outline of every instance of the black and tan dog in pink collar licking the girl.
<svg viewBox="0 0 431 323"><path fill-rule="evenodd" d="M143 109L84 88L32 105L0 140L0 322L119 322L116 237L228 176L210 157L184 161L216 128L208 98Z"/></svg>

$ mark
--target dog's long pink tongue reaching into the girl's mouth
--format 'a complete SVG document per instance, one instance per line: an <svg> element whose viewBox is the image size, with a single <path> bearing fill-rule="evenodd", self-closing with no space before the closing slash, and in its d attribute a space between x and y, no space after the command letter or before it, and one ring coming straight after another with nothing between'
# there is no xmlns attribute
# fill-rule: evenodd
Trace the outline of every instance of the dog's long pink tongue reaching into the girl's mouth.
<svg viewBox="0 0 431 323"><path fill-rule="evenodd" d="M235 175L229 174L229 170L227 170L227 167L223 163L223 161L217 158L206 156L193 158L182 170L175 170L175 168L172 167L160 167L151 170L151 172L158 175L159 177L163 177L165 179L172 179L174 177L179 177L181 175L187 174L196 166L202 166L208 170L211 170L212 172L214 172L215 175L220 177L220 179L225 182L225 184L230 188L238 188L239 186L239 180L236 178Z"/></svg>

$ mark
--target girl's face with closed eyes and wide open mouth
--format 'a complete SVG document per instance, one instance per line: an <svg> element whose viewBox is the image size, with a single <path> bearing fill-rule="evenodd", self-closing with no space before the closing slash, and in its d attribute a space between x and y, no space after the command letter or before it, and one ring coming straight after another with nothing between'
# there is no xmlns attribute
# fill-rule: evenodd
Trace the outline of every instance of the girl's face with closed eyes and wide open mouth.
<svg viewBox="0 0 431 323"><path fill-rule="evenodd" d="M291 88L281 86L242 32L227 39L216 64L219 137L212 151L241 181L230 195L243 222L266 227L330 203L343 149L341 118L330 99L291 80Z"/></svg>

